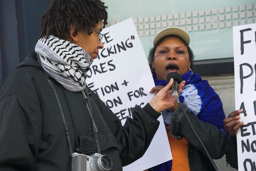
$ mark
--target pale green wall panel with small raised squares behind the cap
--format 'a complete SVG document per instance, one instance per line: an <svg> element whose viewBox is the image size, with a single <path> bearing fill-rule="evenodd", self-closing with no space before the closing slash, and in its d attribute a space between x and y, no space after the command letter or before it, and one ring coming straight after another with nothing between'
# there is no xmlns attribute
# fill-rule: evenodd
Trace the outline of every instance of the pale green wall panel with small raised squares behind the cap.
<svg viewBox="0 0 256 171"><path fill-rule="evenodd" d="M256 23L255 0L103 0L111 26L134 19L146 56L154 36L177 26L189 33L195 60L233 57L233 26Z"/></svg>

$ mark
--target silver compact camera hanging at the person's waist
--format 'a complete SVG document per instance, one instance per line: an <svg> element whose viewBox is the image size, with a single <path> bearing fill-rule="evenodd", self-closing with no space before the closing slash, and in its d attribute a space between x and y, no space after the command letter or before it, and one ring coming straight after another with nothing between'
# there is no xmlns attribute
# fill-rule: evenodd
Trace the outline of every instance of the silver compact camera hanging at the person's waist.
<svg viewBox="0 0 256 171"><path fill-rule="evenodd" d="M71 156L72 171L109 171L112 168L112 160L107 155L73 153Z"/></svg>

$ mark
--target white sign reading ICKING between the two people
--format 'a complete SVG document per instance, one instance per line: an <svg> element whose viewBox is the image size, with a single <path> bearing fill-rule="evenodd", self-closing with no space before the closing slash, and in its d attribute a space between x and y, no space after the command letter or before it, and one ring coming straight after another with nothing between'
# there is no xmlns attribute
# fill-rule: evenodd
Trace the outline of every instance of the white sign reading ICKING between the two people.
<svg viewBox="0 0 256 171"><path fill-rule="evenodd" d="M131 107L143 107L154 97L148 93L154 81L132 18L105 28L102 33L104 48L87 72L87 85L124 124L131 117ZM148 150L124 171L143 171L172 160L163 118L158 120L160 126Z"/></svg>

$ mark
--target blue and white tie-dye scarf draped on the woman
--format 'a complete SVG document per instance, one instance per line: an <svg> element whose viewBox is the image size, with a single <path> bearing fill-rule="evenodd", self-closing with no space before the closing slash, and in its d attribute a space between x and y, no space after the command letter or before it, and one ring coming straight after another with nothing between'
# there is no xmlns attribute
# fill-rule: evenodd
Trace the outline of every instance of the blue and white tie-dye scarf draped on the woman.
<svg viewBox="0 0 256 171"><path fill-rule="evenodd" d="M155 73L152 75L156 86L166 86L165 80L157 80ZM179 97L180 102L193 111L199 120L215 125L219 131L223 131L228 139L223 125L225 114L218 94L215 93L207 80L202 80L200 75L193 74L192 70L181 77L186 83ZM166 110L161 113L167 128L171 122L172 112ZM167 131L169 132L169 130ZM169 168L172 168L172 160L149 168L148 171L169 171Z"/></svg>

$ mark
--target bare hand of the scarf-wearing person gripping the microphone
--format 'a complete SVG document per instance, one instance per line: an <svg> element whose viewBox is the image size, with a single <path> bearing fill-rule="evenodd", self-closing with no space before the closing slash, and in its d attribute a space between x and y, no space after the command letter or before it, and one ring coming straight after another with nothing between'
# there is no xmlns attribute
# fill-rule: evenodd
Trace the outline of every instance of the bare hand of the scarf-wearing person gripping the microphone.
<svg viewBox="0 0 256 171"><path fill-rule="evenodd" d="M175 97L172 95L172 90L170 90L173 82L174 82L174 80L171 79L170 82L165 87L163 87L161 90L159 90L157 92L157 94L155 94L155 96L149 102L149 104L152 106L152 108L154 108L156 111L161 112L161 111L165 111L166 109L169 109L169 110L174 109L175 110L178 107ZM181 93L182 89L184 88L184 85L185 85L185 81L182 81L179 84L179 88L178 88L179 94Z"/></svg>

